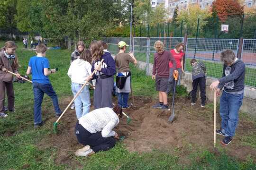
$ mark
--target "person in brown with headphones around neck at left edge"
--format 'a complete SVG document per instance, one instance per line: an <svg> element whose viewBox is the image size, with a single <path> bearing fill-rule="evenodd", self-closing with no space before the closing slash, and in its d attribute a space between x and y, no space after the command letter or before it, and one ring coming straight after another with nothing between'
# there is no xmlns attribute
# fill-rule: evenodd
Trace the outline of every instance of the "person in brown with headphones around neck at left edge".
<svg viewBox="0 0 256 170"><path fill-rule="evenodd" d="M15 56L17 45L8 41L4 47L0 49L0 117L7 117L4 109L5 89L8 98L8 110L14 111L14 90L13 90L13 75L8 71L18 74L18 58Z"/></svg>

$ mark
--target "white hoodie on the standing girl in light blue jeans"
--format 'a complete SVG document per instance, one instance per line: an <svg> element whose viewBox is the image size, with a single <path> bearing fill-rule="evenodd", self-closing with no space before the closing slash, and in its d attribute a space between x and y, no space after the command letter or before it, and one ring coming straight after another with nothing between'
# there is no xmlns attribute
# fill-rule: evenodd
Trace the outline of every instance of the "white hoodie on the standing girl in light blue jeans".
<svg viewBox="0 0 256 170"><path fill-rule="evenodd" d="M91 64L78 58L71 63L67 74L72 83L84 84L88 76L91 75ZM95 85L95 80L92 80L92 84Z"/></svg>

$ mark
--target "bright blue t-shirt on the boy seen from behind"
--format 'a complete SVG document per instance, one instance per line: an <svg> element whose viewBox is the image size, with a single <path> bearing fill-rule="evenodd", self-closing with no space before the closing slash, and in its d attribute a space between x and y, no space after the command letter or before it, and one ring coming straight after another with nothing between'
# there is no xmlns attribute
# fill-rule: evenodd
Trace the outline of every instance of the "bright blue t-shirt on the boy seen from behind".
<svg viewBox="0 0 256 170"><path fill-rule="evenodd" d="M32 82L50 84L48 76L44 75L44 68L50 68L48 59L33 56L29 59L28 66L31 67Z"/></svg>

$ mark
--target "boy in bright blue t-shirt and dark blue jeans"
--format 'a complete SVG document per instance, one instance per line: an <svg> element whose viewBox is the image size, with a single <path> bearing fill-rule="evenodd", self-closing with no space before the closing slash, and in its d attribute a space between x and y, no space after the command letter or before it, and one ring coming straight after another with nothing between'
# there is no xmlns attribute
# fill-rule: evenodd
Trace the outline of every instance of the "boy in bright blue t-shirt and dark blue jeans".
<svg viewBox="0 0 256 170"><path fill-rule="evenodd" d="M41 104L43 102L44 93L51 97L56 117L61 115L59 108L58 97L53 86L50 83L48 76L55 73L55 69L48 69L49 60L46 57L46 46L39 44L36 47L37 55L30 58L28 62L27 75L32 73L33 91L34 91L34 127L40 127L45 122L42 121Z"/></svg>

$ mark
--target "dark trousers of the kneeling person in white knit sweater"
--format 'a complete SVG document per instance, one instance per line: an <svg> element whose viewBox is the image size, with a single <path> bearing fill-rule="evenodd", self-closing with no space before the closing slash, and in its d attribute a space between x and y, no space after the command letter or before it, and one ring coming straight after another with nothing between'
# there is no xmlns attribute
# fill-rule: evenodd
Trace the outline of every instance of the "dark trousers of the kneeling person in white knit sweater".
<svg viewBox="0 0 256 170"><path fill-rule="evenodd" d="M107 151L116 144L116 140L113 136L102 137L101 132L91 134L78 122L75 125L75 135L80 144L90 145L95 153L99 151Z"/></svg>

